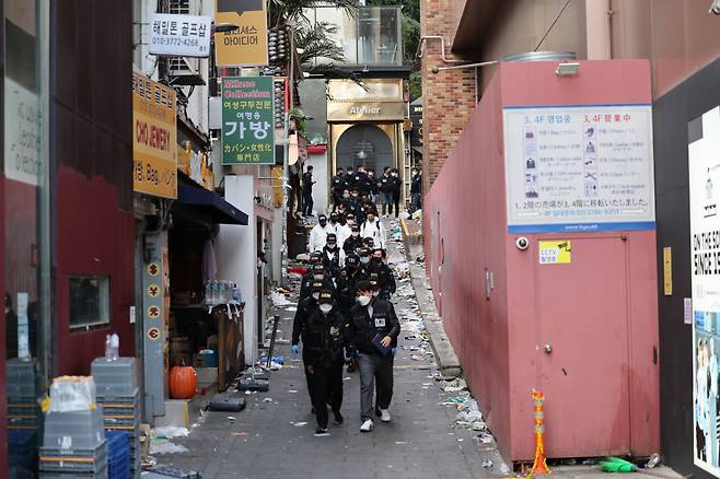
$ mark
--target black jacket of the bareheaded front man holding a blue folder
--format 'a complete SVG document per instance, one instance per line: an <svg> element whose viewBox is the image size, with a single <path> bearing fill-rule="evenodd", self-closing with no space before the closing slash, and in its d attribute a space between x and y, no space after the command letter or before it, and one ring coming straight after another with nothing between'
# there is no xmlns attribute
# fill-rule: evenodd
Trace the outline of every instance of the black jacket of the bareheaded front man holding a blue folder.
<svg viewBox="0 0 720 479"><path fill-rule="evenodd" d="M381 297L372 300L372 317L368 315L368 307L356 304L350 309L349 338L350 342L360 352L372 354L378 349L372 343L375 335L390 336L393 343L400 334L400 324L397 320L393 304Z"/></svg>

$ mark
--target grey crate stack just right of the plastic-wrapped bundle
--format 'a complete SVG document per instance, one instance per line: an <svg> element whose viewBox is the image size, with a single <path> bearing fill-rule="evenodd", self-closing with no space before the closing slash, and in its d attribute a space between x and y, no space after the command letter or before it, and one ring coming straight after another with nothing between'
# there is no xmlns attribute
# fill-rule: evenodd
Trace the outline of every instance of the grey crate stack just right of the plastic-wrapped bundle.
<svg viewBox="0 0 720 479"><path fill-rule="evenodd" d="M130 442L131 477L140 477L140 389L135 358L107 361L97 358L91 365L97 404L103 407L106 430L127 433Z"/></svg>

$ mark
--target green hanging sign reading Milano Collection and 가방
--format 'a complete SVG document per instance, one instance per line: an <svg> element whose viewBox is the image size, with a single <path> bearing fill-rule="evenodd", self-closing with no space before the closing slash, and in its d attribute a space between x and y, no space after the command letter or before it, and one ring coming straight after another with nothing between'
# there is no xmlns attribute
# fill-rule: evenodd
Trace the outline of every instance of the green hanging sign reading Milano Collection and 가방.
<svg viewBox="0 0 720 479"><path fill-rule="evenodd" d="M222 164L275 164L272 78L222 79Z"/></svg>

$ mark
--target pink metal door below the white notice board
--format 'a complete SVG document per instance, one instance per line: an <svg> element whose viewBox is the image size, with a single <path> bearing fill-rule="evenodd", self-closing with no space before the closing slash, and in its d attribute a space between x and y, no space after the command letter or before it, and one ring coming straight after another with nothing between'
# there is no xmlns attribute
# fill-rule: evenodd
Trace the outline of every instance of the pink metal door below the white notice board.
<svg viewBox="0 0 720 479"><path fill-rule="evenodd" d="M626 246L622 235L572 238L570 262L550 265L534 248L548 457L629 452Z"/></svg>

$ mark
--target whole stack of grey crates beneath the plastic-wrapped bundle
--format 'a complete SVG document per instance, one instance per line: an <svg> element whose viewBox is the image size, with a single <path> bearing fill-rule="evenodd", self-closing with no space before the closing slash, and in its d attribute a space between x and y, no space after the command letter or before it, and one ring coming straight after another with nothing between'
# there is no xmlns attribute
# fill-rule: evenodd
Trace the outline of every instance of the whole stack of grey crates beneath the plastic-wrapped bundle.
<svg viewBox="0 0 720 479"><path fill-rule="evenodd" d="M46 414L39 470L42 479L107 478L107 441L100 409Z"/></svg>

